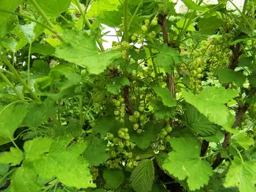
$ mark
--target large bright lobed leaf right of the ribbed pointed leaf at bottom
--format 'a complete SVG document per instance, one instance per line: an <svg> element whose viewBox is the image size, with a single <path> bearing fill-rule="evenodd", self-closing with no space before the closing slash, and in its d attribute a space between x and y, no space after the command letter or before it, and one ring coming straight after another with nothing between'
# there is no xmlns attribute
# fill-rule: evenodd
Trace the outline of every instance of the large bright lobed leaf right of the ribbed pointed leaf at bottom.
<svg viewBox="0 0 256 192"><path fill-rule="evenodd" d="M207 184L213 170L200 158L201 146L193 138L171 138L173 151L165 160L163 168L179 180L187 179L190 190L200 189Z"/></svg>

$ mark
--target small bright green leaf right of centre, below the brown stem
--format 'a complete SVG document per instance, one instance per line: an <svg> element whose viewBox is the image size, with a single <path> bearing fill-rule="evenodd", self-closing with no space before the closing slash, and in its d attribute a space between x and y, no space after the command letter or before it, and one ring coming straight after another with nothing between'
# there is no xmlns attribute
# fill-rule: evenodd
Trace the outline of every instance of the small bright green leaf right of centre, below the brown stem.
<svg viewBox="0 0 256 192"><path fill-rule="evenodd" d="M174 107L176 106L176 101L173 98L172 92L167 88L154 87L154 92L161 97L162 102L165 106Z"/></svg>

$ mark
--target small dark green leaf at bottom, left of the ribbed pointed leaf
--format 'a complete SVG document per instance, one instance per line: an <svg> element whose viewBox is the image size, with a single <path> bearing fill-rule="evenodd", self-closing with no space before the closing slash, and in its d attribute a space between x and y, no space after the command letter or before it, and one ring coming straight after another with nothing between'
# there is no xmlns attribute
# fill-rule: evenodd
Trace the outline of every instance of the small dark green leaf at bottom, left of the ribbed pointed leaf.
<svg viewBox="0 0 256 192"><path fill-rule="evenodd" d="M103 171L107 190L117 189L124 182L124 173L121 170L106 169Z"/></svg>

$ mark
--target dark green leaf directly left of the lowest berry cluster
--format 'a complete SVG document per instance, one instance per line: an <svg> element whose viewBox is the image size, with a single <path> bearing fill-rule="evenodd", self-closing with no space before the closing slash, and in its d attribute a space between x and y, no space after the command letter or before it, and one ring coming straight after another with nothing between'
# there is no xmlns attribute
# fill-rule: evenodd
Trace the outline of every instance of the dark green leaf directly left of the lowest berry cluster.
<svg viewBox="0 0 256 192"><path fill-rule="evenodd" d="M84 151L83 157L90 166L97 166L106 162L109 158L106 154L106 142L101 138L91 136L87 139L87 149Z"/></svg>

